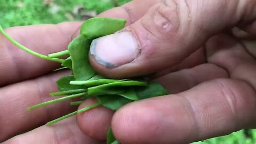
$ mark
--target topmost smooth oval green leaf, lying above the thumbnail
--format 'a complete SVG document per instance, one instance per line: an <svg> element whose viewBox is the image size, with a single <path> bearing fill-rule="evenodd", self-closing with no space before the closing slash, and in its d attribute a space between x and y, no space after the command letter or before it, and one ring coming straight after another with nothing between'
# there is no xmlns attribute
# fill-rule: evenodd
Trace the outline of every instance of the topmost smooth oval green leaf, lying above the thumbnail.
<svg viewBox="0 0 256 144"><path fill-rule="evenodd" d="M94 39L115 33L124 28L126 20L113 18L92 18L81 26L81 34Z"/></svg>

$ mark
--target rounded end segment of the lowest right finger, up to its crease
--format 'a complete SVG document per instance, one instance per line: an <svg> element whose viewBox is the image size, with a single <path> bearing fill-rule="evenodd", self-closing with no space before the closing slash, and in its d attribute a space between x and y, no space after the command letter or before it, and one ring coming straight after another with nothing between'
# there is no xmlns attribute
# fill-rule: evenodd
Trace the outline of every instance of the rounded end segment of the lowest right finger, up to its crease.
<svg viewBox="0 0 256 144"><path fill-rule="evenodd" d="M121 143L186 143L195 130L186 105L175 95L130 103L114 114L113 133Z"/></svg>

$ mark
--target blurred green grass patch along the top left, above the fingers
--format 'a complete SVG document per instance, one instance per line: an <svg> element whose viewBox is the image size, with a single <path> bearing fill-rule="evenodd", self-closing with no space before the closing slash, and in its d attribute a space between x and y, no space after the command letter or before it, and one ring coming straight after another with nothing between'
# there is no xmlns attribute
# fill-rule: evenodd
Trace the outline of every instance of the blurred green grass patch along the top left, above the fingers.
<svg viewBox="0 0 256 144"><path fill-rule="evenodd" d="M129 0L1 0L0 22L4 28L81 20L86 12L100 13ZM49 2L49 3L47 3ZM78 7L85 11L76 13Z"/></svg>

